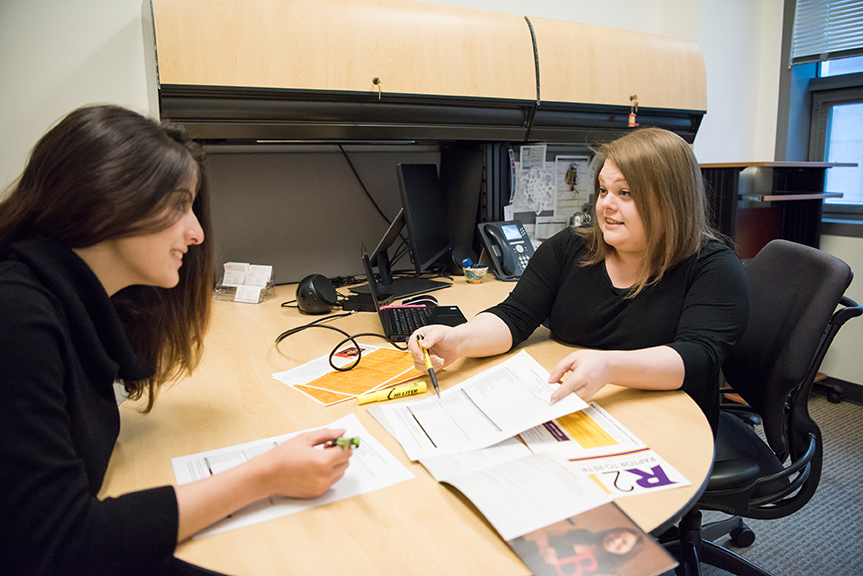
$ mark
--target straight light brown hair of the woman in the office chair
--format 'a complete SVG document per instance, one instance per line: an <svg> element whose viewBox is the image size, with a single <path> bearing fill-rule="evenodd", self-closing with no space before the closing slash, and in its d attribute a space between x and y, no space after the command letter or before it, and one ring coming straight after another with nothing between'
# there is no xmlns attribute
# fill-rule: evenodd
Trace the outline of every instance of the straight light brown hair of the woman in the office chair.
<svg viewBox="0 0 863 576"><path fill-rule="evenodd" d="M669 268L697 254L707 240L719 238L707 223L698 161L677 134L640 128L601 145L597 157L597 175L606 160L623 174L647 235L647 251L627 298L659 282ZM578 232L588 247L583 265L598 264L614 252L603 239L598 219Z"/></svg>

